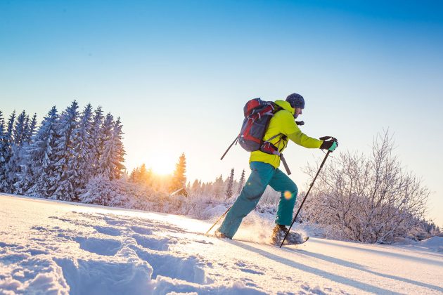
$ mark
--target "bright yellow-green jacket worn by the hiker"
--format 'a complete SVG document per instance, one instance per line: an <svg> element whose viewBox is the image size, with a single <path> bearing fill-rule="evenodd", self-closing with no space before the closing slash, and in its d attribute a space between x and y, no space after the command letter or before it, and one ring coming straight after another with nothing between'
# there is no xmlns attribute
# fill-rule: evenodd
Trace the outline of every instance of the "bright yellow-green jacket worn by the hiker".
<svg viewBox="0 0 443 295"><path fill-rule="evenodd" d="M288 139L293 140L297 145L308 148L319 148L322 140L312 138L300 131L297 124L295 124L294 112L295 110L285 100L276 100L276 105L283 107L283 110L279 110L271 118L267 131L264 133L263 140L268 140L272 136L281 134L270 140L270 143L278 147L278 150L282 152L286 145L288 145ZM282 138L286 136L286 138ZM256 150L251 152L249 162L264 162L271 164L278 168L280 166L280 157L278 155L269 155L266 152Z"/></svg>

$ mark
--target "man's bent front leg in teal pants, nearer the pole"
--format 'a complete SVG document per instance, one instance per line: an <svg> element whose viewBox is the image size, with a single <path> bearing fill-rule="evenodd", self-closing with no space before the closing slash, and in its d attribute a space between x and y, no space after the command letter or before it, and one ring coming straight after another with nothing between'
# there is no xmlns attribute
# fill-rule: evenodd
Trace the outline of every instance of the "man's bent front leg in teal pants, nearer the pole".
<svg viewBox="0 0 443 295"><path fill-rule="evenodd" d="M290 225L293 221L293 211L297 199L297 185L280 169L276 169L269 185L277 192L281 192L276 224Z"/></svg>

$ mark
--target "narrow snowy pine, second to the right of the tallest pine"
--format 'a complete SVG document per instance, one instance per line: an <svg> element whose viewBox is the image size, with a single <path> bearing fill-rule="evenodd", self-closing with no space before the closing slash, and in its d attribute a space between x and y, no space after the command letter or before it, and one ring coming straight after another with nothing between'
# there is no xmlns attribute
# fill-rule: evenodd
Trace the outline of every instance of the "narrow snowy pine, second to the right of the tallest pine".
<svg viewBox="0 0 443 295"><path fill-rule="evenodd" d="M100 161L101 153L103 151L103 136L101 132L103 124L103 110L101 106L98 106L94 111L94 118L92 119L91 126L91 165L89 166L89 173L91 176L98 175L98 162Z"/></svg>

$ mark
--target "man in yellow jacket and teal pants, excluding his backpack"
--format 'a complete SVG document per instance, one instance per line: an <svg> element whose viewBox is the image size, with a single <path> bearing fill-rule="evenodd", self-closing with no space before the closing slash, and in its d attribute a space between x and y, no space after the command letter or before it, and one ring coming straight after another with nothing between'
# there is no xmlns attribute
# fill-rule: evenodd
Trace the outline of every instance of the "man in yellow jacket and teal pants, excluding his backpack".
<svg viewBox="0 0 443 295"><path fill-rule="evenodd" d="M302 147L335 150L338 145L336 141L311 138L298 128L295 118L302 114L304 109L304 98L300 94L290 94L286 100L276 100L275 104L281 107L282 110L278 110L271 118L268 129L264 133L264 141L269 140L278 148L279 152L285 149L288 140L292 140L297 145L302 145ZM277 134L280 134L280 136L276 136ZM236 202L226 214L220 228L216 230L215 235L232 239L243 218L255 208L267 185L271 185L271 188L281 192L276 227L272 234L273 242L278 242L278 239L288 231L285 225L292 223L298 192L297 185L283 171L278 169L278 166L280 166L280 156L278 155L257 150L251 152L249 163L252 172L248 181L246 181Z"/></svg>

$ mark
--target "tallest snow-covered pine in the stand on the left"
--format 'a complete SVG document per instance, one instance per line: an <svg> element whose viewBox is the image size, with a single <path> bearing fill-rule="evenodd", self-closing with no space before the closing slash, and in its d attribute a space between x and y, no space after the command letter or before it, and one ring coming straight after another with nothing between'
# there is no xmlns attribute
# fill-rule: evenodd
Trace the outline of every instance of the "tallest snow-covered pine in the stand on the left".
<svg viewBox="0 0 443 295"><path fill-rule="evenodd" d="M73 101L71 105L61 114L57 124L56 146L54 155L56 162L54 164L54 173L50 176L51 199L60 199L62 201L71 201L75 199L75 189L72 184L72 176L75 177L76 171L68 167L68 161L71 157L77 157L72 145L73 131L77 128L78 103Z"/></svg>

